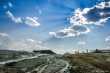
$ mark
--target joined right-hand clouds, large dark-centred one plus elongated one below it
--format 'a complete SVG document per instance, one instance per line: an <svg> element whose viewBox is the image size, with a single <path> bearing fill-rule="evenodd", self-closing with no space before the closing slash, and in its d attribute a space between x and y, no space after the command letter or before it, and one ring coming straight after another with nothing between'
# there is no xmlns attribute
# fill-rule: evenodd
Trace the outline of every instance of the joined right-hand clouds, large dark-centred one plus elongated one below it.
<svg viewBox="0 0 110 73"><path fill-rule="evenodd" d="M56 38L75 37L87 34L91 29L87 25L103 25L110 18L110 1L101 2L91 8L76 9L70 17L70 26L57 32L49 32Z"/></svg>

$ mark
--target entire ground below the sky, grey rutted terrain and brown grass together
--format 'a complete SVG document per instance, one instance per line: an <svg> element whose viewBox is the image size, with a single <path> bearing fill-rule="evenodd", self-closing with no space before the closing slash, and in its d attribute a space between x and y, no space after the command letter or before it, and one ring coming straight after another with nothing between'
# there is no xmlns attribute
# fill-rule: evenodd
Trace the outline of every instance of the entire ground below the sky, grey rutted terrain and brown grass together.
<svg viewBox="0 0 110 73"><path fill-rule="evenodd" d="M13 55L18 54L16 58L11 52L7 55L2 51L0 73L110 73L110 53L14 52Z"/></svg>

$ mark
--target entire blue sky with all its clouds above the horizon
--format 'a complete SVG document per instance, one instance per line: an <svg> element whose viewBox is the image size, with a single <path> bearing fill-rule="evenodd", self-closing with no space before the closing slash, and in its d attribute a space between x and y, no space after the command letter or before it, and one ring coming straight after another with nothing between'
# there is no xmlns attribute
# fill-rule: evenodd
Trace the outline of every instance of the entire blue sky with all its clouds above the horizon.
<svg viewBox="0 0 110 73"><path fill-rule="evenodd" d="M110 0L0 0L0 49L109 49Z"/></svg>

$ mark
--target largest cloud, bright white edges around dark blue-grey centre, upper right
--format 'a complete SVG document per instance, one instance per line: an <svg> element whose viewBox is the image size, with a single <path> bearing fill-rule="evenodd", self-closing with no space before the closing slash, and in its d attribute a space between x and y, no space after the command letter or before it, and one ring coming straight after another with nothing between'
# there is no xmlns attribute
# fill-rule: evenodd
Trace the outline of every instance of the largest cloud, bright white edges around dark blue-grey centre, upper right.
<svg viewBox="0 0 110 73"><path fill-rule="evenodd" d="M91 8L76 9L70 17L74 25L95 24L102 25L110 18L110 1L101 2Z"/></svg>

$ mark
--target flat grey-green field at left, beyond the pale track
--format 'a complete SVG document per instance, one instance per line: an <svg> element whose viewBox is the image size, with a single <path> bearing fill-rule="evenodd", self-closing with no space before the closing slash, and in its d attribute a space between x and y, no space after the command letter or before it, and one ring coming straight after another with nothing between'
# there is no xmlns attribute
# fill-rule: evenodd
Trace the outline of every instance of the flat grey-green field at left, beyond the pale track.
<svg viewBox="0 0 110 73"><path fill-rule="evenodd" d="M0 50L0 61L17 59L24 56L32 56L32 55L34 54L26 51Z"/></svg>

